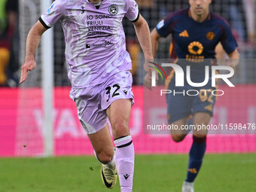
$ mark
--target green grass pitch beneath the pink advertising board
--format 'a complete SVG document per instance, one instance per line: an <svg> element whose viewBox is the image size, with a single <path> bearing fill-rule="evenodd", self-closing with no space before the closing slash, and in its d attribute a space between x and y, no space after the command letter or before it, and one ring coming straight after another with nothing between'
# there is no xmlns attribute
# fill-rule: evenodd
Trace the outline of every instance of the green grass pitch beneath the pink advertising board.
<svg viewBox="0 0 256 192"><path fill-rule="evenodd" d="M187 155L136 155L134 192L180 192ZM0 158L0 192L109 190L95 157ZM206 154L196 192L256 191L256 154Z"/></svg>

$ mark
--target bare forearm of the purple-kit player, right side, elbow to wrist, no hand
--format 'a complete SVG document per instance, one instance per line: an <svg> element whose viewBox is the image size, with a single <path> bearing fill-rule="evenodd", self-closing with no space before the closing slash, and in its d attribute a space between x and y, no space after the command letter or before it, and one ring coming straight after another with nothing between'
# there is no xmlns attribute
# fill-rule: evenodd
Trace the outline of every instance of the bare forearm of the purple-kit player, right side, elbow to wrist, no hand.
<svg viewBox="0 0 256 192"><path fill-rule="evenodd" d="M148 28L148 23L142 18L142 23L140 25L134 25L136 30L136 35L139 40L139 44L142 47L145 59L153 59L152 56L152 45L151 36Z"/></svg>

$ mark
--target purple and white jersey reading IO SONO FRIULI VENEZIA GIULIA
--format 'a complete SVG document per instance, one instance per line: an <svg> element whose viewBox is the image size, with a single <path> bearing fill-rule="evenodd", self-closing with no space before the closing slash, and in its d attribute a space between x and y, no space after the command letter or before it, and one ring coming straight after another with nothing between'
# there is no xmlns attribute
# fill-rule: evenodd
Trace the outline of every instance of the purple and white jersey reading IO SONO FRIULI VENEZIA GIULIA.
<svg viewBox="0 0 256 192"><path fill-rule="evenodd" d="M46 28L58 20L66 41L66 62L73 88L102 84L117 72L132 68L122 20L139 19L134 0L56 0L40 22Z"/></svg>

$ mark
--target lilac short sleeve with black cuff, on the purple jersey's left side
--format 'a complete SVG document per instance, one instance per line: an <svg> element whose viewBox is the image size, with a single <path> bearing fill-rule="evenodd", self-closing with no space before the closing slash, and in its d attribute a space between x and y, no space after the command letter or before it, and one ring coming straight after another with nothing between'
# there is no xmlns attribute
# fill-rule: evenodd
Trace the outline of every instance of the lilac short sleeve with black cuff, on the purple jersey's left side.
<svg viewBox="0 0 256 192"><path fill-rule="evenodd" d="M66 14L66 4L68 0L56 0L50 5L50 8L41 15L39 21L42 25L49 29L52 27L58 20L60 20Z"/></svg>

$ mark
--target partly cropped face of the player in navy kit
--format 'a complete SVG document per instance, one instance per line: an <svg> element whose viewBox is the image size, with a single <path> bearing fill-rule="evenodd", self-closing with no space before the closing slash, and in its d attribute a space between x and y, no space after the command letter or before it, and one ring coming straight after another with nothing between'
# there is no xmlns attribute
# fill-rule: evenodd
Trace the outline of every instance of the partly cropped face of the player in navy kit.
<svg viewBox="0 0 256 192"><path fill-rule="evenodd" d="M208 14L211 2L212 0L189 0L190 9L198 16Z"/></svg>

